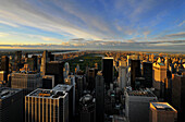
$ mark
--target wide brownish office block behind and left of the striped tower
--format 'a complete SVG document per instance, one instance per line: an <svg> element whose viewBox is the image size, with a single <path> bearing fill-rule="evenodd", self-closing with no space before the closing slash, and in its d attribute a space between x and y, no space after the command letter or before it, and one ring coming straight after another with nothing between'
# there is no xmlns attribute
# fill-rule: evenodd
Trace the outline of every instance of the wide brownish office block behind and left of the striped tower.
<svg viewBox="0 0 185 122"><path fill-rule="evenodd" d="M11 74L11 87L23 88L23 95L26 95L36 88L42 87L42 77L40 73L21 72Z"/></svg>

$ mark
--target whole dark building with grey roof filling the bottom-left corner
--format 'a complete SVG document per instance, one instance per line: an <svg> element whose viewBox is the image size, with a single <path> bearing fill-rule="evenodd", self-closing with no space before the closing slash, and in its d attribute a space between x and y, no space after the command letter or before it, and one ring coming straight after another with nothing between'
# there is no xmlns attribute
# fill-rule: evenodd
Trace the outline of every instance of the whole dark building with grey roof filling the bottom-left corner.
<svg viewBox="0 0 185 122"><path fill-rule="evenodd" d="M0 88L0 122L24 122L23 107L21 89Z"/></svg>

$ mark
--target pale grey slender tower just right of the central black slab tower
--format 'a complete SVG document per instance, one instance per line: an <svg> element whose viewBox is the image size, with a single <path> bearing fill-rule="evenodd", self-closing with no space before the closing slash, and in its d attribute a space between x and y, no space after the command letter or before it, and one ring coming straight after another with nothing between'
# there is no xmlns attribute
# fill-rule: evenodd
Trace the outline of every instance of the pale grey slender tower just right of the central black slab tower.
<svg viewBox="0 0 185 122"><path fill-rule="evenodd" d="M119 82L119 87L121 89L124 89L124 87L126 87L127 85L127 68L126 66L120 66L119 68L119 77L118 77L118 82Z"/></svg>

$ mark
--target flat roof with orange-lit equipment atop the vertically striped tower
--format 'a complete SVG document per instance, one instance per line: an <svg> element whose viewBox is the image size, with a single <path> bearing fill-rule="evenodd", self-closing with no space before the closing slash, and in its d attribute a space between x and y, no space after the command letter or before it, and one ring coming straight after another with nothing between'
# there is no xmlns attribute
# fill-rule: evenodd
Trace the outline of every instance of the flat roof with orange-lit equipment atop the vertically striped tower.
<svg viewBox="0 0 185 122"><path fill-rule="evenodd" d="M28 94L27 97L59 99L59 98L64 98L66 95L67 93L65 91L37 88L36 90Z"/></svg>

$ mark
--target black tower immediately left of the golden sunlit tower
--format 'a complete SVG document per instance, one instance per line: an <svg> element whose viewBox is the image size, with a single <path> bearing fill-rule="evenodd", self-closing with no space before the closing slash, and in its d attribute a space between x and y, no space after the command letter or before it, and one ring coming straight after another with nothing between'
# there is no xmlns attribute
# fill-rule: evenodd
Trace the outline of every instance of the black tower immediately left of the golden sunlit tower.
<svg viewBox="0 0 185 122"><path fill-rule="evenodd" d="M152 63L143 62L143 75L145 77L145 87L152 87Z"/></svg>

